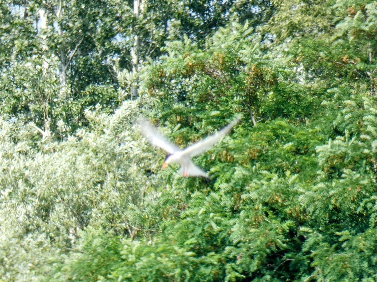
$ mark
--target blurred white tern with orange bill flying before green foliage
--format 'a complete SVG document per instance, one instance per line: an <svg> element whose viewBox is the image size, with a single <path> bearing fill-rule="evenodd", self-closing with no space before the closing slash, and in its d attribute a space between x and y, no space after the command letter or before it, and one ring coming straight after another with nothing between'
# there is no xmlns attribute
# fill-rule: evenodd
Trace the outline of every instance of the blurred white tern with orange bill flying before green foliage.
<svg viewBox="0 0 377 282"><path fill-rule="evenodd" d="M154 146L164 149L166 152L169 153L167 158L165 159L162 168L166 168L167 165L171 162L177 162L181 165L179 169L179 173L182 173L183 176L203 176L208 177L208 174L202 170L200 167L195 165L191 158L193 156L200 155L204 153L210 147L212 147L216 142L220 141L227 133L235 126L239 120L241 120L242 115L238 115L234 118L231 123L225 126L220 131L208 136L207 138L181 150L175 144L170 143L165 136L163 136L156 127L154 127L148 120L145 118L140 118L138 123L140 126L141 133L145 136L145 138Z"/></svg>

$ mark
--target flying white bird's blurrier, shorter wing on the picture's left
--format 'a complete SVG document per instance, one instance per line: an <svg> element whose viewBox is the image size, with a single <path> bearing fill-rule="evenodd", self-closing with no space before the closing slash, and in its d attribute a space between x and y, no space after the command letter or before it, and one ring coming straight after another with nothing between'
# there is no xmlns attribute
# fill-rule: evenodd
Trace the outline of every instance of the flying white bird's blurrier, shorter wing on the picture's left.
<svg viewBox="0 0 377 282"><path fill-rule="evenodd" d="M180 151L179 147L172 144L165 138L148 120L140 118L138 121L140 131L144 137L154 146L164 149L166 152L173 154Z"/></svg>

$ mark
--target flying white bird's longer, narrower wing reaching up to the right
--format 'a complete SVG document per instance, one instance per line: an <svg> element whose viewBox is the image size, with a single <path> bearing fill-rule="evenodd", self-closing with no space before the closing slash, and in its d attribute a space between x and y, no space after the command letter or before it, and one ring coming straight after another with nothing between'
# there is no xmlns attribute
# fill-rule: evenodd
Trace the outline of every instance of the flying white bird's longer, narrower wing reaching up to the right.
<svg viewBox="0 0 377 282"><path fill-rule="evenodd" d="M235 126L239 120L241 120L242 115L238 115L236 118L234 118L233 121L231 121L230 124L225 126L220 131L212 134L211 136L208 136L207 138L187 147L183 150L184 155L192 157L199 155L201 153L204 153L208 149L210 149L213 144L220 141L227 133L232 129L233 126Z"/></svg>

